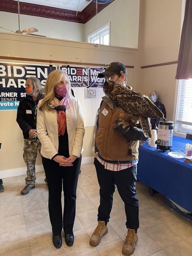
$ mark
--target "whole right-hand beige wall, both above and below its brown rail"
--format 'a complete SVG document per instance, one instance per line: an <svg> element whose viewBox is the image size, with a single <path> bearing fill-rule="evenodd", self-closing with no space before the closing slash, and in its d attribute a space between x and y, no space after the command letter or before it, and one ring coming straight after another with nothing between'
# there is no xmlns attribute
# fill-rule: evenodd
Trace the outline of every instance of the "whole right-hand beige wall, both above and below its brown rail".
<svg viewBox="0 0 192 256"><path fill-rule="evenodd" d="M182 0L142 0L140 5L138 65L177 61ZM141 93L158 91L169 120L173 120L176 69L177 64L140 69L137 77Z"/></svg>

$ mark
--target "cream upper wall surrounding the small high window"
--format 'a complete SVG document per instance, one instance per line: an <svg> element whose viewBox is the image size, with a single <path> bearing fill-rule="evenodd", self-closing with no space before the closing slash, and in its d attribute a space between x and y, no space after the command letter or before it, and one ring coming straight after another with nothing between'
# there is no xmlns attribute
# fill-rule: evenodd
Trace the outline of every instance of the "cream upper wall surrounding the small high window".
<svg viewBox="0 0 192 256"><path fill-rule="evenodd" d="M110 22L110 45L137 48L139 33L139 0L116 0L85 23L87 36Z"/></svg>

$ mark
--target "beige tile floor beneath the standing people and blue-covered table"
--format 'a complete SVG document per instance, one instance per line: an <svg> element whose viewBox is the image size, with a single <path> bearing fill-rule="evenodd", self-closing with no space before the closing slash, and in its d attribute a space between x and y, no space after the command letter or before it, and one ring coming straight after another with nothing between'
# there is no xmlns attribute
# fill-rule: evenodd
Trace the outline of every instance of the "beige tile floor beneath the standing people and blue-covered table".
<svg viewBox="0 0 192 256"><path fill-rule="evenodd" d="M99 186L93 164L81 166L79 175L75 242L60 249L52 244L49 221L48 189L44 172L37 173L35 189L21 196L25 175L3 179L5 191L0 193L0 255L3 256L122 256L125 239L125 211L116 190L108 233L98 245L89 245L97 225ZM139 240L133 256L191 256L192 222L171 210L165 198L151 197L148 187L137 181L140 204ZM62 234L63 235L63 234Z"/></svg>

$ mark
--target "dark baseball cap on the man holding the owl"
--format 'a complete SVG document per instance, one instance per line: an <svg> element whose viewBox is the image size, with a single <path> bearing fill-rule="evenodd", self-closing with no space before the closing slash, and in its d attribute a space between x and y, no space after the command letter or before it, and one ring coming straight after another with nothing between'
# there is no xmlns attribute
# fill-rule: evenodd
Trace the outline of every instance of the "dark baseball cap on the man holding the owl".
<svg viewBox="0 0 192 256"><path fill-rule="evenodd" d="M125 76L127 76L125 65L120 62L111 62L111 64L107 66L104 72L98 74L98 77L102 78L104 76L113 76L115 74L125 74Z"/></svg>

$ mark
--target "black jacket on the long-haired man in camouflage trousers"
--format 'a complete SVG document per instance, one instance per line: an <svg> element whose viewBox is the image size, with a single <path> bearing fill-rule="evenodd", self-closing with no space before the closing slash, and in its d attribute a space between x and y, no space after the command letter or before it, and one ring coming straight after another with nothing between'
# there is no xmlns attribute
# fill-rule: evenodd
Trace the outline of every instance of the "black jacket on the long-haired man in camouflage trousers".
<svg viewBox="0 0 192 256"><path fill-rule="evenodd" d="M24 139L29 139L29 130L36 129L37 123L37 105L43 95L33 100L32 96L26 96L22 99L17 109L17 123L23 131Z"/></svg>

